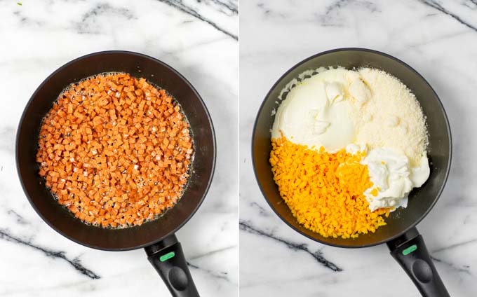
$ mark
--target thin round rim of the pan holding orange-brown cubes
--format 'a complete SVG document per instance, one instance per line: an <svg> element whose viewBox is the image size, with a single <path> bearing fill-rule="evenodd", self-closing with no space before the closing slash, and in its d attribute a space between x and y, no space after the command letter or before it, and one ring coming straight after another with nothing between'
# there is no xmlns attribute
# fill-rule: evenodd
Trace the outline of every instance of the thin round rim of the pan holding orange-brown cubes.
<svg viewBox="0 0 477 297"><path fill-rule="evenodd" d="M149 242L145 242L143 244L139 244L139 245L136 245L136 246L132 246L132 247L119 247L119 248L106 248L106 247L100 247L100 246L97 246L95 244L88 244L87 242L82 242L80 240L76 240L76 238L74 237L71 237L69 235L67 235L66 233L62 232L61 230L59 230L55 225L53 225L53 223L51 223L50 221L48 221L44 216L43 214L41 214L41 212L39 211L39 209L36 207L36 205L34 204L34 202L32 201L32 199L30 198L30 195L29 193L27 192L26 188L25 188L25 184L23 183L23 179L22 179L22 176L20 174L20 162L18 160L18 141L20 139L20 127L23 123L23 120L27 114L27 109L28 107L30 106L30 104L32 104L33 102L33 99L34 97L36 97L36 94L43 88L44 85L46 85L46 83L48 83L48 81L51 80L51 78L53 76L55 76L55 74L58 74L58 72L62 71L63 69L66 69L67 67L69 67L71 64L74 64L75 62L80 62L81 60L85 60L85 59L88 59L89 57L93 57L93 56L98 56L98 55L110 55L110 54L125 54L125 55L131 55L131 56L135 56L135 57L142 57L142 58L145 58L147 60L150 60L156 64L161 64L163 67L166 67L167 69L169 69L170 71L172 71L174 74L176 74L186 85L189 86L189 88L191 88L192 92L194 92L194 95L196 96L197 99L199 99L199 103L201 104L201 106L203 107L204 111L206 112L206 116L207 116L207 119L208 119L208 123L210 125L210 131L212 132L212 141L213 141L213 156L212 156L212 166L210 168L210 177L207 181L207 184L206 184L206 188L205 188L205 191L203 191L203 194L202 194L202 197L200 198L199 202L197 203L196 207L194 208L194 210L189 214L189 216L187 216L187 218L182 221L180 224L177 225L177 227L175 227L173 230L170 231L170 233L166 234L166 235L163 235L162 237L160 238L156 238L154 240L150 240ZM192 83L190 83L187 78L185 78L184 76L182 76L182 74L180 74L179 71L175 70L173 67L170 67L170 65L166 64L165 62L162 62L161 60L158 60L154 57L151 57L149 55L145 55L145 54L142 54L142 53L136 53L136 52L133 52L133 51L128 51L128 50L102 50L102 51L99 51L99 52L95 52L95 53L89 53L87 55L82 55L81 57L76 57L74 60L70 60L69 62L63 64L61 67L58 67L58 69L55 69L55 71L53 71L49 76L47 76L42 82L41 84L38 86L38 88L35 89L35 91L33 92L32 96L29 98L27 104L25 104L25 107L22 111L22 116L20 117L20 121L18 123L18 126L17 126L17 132L16 132L16 137L15 137L15 163L16 163L16 170L17 170L17 174L18 174L18 178L20 179L20 184L22 186L22 190L23 190L23 193L25 193L25 196L27 197L28 199L28 202L29 204L33 207L33 209L35 210L36 214L38 214L40 216L40 218L48 224L48 226L50 226L51 228L53 228L53 230L55 230L56 232L60 233L60 235L66 237L67 239L69 240L72 240L73 242L76 242L77 244L81 244L85 247L90 247L92 249L99 249L99 250L103 250L103 251L129 251L129 250L133 250L133 249L141 249L143 247L147 247L149 245L152 245L152 244L155 244L156 242L160 242L161 240L163 240L163 238L166 238L174 233L177 232L177 230L179 230L180 228L182 228L186 223L187 221L189 221L189 219L192 218L192 216L194 216L194 214L197 212L197 210L199 210L199 208L201 207L202 203L203 203L203 200L206 198L206 195L210 189L210 185L212 184L212 181L213 181L213 176L215 174L215 163L216 163L216 159L217 159L217 141L215 139L215 130L214 130L214 127L213 127L213 122L212 122L212 118L210 117L210 112L208 111L207 109L207 106L206 104L203 102L203 99L201 97L201 95L199 95L199 92L197 92L196 88L194 88L194 86L192 85ZM160 219L160 218L158 218ZM130 227L130 228L134 228L134 227Z"/></svg>

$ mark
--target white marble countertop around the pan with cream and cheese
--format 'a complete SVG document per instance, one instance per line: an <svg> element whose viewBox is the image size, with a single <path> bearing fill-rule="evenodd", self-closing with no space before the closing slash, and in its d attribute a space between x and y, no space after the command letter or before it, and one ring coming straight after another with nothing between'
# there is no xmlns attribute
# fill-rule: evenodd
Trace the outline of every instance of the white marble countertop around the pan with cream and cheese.
<svg viewBox="0 0 477 297"><path fill-rule="evenodd" d="M241 296L419 296L386 245L340 249L308 240L278 219L255 181L250 134L269 88L304 58L343 47L398 57L441 97L452 169L417 228L450 295L476 296L476 1L241 1L240 12Z"/></svg>

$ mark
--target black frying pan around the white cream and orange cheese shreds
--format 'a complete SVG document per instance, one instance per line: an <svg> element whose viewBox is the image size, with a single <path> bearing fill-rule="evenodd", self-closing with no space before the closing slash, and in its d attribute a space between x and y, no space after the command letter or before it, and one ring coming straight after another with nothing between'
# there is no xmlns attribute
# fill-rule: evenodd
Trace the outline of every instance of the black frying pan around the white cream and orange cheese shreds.
<svg viewBox="0 0 477 297"><path fill-rule="evenodd" d="M431 167L429 179L421 188L415 188L410 193L407 208L391 212L386 219L386 226L378 228L376 233L362 234L356 239L348 240L325 238L300 225L278 193L269 163L270 129L274 123L271 111L276 108L275 101L278 101L280 91L285 84L305 70L337 66L347 69L355 67L382 69L401 79L421 104L424 115L427 116L429 130L428 157ZM253 127L252 155L255 177L265 199L288 226L312 240L334 247L370 247L386 242L391 255L408 273L423 296L449 296L415 226L436 204L447 180L452 155L450 127L436 92L408 64L390 55L362 48L330 50L298 63L278 79L260 106Z"/></svg>

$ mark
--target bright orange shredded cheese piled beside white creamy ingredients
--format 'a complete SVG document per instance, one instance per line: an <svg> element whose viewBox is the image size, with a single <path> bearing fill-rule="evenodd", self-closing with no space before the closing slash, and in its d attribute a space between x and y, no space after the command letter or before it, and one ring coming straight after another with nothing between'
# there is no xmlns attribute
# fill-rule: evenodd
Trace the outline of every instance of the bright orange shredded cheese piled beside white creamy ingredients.
<svg viewBox="0 0 477 297"><path fill-rule="evenodd" d="M305 228L323 237L354 238L386 225L389 209L370 212L363 195L373 184L368 167L351 155L319 151L285 137L271 139L270 164L281 197Z"/></svg>

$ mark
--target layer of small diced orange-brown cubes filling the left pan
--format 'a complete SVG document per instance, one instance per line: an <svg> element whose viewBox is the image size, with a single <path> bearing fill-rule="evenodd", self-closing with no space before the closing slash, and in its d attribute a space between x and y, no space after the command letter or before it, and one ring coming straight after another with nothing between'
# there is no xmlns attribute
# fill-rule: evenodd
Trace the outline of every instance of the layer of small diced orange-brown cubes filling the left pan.
<svg viewBox="0 0 477 297"><path fill-rule="evenodd" d="M129 74L70 85L46 114L38 144L39 175L58 202L81 221L113 228L173 207L194 153L180 106Z"/></svg>

